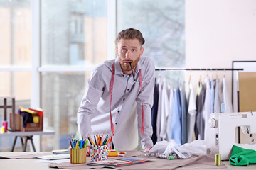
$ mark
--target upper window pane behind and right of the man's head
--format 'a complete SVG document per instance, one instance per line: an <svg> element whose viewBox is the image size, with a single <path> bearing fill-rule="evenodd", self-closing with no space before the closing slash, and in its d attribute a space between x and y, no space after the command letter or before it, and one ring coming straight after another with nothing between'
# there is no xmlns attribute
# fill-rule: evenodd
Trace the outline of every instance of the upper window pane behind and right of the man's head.
<svg viewBox="0 0 256 170"><path fill-rule="evenodd" d="M151 57L156 68L185 67L184 0L117 1L117 30L127 28L142 32L144 56ZM183 72L166 76L176 81L179 74L183 77Z"/></svg>

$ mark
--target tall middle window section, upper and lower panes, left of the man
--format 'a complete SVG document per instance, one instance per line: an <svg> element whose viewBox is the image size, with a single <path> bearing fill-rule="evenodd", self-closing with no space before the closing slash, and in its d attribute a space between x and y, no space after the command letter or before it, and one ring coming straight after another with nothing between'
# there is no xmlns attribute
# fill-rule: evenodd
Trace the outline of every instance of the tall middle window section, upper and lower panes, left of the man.
<svg viewBox="0 0 256 170"><path fill-rule="evenodd" d="M41 3L41 104L45 125L55 130L43 136L43 149L65 149L77 132L90 68L107 60L107 0Z"/></svg>

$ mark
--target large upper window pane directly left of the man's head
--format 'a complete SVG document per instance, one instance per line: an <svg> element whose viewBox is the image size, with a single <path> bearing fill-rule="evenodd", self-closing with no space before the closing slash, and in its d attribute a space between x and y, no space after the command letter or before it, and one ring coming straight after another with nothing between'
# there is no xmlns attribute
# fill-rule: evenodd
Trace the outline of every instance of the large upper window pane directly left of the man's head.
<svg viewBox="0 0 256 170"><path fill-rule="evenodd" d="M90 66L107 59L107 0L41 3L42 66Z"/></svg>

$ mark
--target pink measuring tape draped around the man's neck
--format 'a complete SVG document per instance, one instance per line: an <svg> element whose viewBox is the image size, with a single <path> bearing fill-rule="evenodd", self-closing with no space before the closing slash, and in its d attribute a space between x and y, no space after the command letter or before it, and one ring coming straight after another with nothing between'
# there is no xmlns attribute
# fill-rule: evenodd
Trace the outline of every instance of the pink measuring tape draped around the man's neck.
<svg viewBox="0 0 256 170"><path fill-rule="evenodd" d="M139 69L139 85L141 89L142 94L142 72L141 69ZM110 125L111 125L111 132L112 136L114 135L114 125L112 121L112 114L111 114L111 103L112 103L112 93L113 93L113 86L114 86L114 63L112 64L112 77L110 81ZM142 103L142 128L141 133L144 133L144 109L143 109L143 103Z"/></svg>

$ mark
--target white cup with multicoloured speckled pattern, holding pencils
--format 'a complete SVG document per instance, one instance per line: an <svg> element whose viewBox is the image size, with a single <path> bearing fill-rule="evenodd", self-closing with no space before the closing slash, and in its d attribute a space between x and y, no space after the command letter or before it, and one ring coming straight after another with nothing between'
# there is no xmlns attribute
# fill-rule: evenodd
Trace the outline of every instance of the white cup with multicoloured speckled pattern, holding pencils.
<svg viewBox="0 0 256 170"><path fill-rule="evenodd" d="M92 162L108 159L108 146L92 145L90 146L90 158Z"/></svg>

